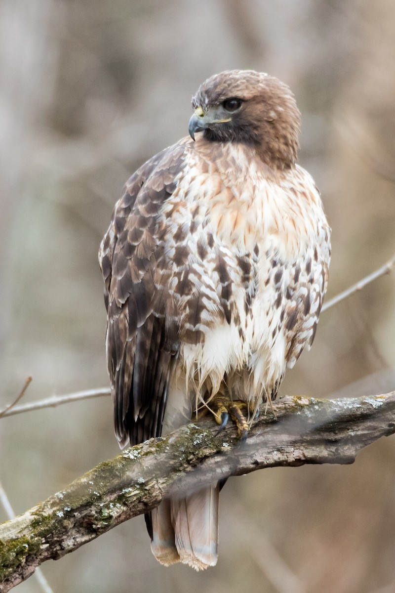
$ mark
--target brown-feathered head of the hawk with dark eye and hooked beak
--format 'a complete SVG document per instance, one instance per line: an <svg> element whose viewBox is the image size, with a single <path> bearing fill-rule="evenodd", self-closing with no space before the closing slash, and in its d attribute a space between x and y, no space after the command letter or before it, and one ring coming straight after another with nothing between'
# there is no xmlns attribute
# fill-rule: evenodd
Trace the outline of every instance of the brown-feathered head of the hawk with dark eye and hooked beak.
<svg viewBox="0 0 395 593"><path fill-rule="evenodd" d="M262 160L280 168L294 164L300 112L290 88L253 70L230 70L208 78L192 97L190 135L211 142L256 146Z"/></svg>

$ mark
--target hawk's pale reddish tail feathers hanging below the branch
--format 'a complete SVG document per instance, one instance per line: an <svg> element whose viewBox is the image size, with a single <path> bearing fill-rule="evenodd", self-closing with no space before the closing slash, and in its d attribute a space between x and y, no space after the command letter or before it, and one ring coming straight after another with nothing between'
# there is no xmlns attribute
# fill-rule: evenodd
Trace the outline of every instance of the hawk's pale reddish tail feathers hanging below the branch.
<svg viewBox="0 0 395 593"><path fill-rule="evenodd" d="M185 498L163 500L152 511L151 549L169 566L182 562L195 570L217 563L219 484Z"/></svg>

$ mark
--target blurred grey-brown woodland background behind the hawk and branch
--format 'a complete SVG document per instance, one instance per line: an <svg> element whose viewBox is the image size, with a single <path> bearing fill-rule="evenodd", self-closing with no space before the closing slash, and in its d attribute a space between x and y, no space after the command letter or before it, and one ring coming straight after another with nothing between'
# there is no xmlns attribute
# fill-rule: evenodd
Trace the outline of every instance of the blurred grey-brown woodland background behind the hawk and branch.
<svg viewBox="0 0 395 593"><path fill-rule="evenodd" d="M0 28L0 409L30 374L25 402L108 385L101 237L124 181L186 135L215 72L293 88L299 161L333 228L328 297L395 251L393 0L1 0ZM282 394L394 389L394 293L395 273L324 313ZM0 419L0 448L20 513L117 454L110 398ZM229 480L203 574L156 563L141 517L43 571L56 593L390 593L394 454L381 439L353 466Z"/></svg>

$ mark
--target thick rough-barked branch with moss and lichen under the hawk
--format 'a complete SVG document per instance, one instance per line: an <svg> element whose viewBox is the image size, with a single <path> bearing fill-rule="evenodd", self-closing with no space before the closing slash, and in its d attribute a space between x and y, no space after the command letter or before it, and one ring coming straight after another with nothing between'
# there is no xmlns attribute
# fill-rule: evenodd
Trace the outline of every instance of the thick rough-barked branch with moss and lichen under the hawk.
<svg viewBox="0 0 395 593"><path fill-rule="evenodd" d="M353 463L362 447L395 432L395 392L316 400L284 397L240 443L231 423L218 434L203 418L104 461L64 490L0 525L0 591L44 560L57 560L163 497L260 468Z"/></svg>

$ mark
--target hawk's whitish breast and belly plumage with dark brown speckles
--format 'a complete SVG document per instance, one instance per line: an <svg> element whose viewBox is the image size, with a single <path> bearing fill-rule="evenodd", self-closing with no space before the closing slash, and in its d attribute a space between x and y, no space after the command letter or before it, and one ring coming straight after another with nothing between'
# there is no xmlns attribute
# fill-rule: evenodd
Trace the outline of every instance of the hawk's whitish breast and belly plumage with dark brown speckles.
<svg viewBox="0 0 395 593"><path fill-rule="evenodd" d="M259 404L275 396L286 366L313 340L326 289L329 227L302 168L274 179L249 162L247 180L242 168L201 170L200 157L192 154L190 178L183 177L163 212L172 225L185 231L189 225L184 265L203 338L181 343L175 381L178 388L185 381L197 404L220 390ZM237 154L233 158L237 162ZM188 298L183 303L190 307Z"/></svg>

